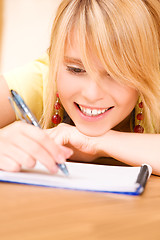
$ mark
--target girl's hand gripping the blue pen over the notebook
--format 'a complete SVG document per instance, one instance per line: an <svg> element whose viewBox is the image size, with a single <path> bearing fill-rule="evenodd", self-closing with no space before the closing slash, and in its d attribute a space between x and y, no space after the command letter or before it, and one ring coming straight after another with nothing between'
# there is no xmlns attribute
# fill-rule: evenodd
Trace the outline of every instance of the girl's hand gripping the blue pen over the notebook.
<svg viewBox="0 0 160 240"><path fill-rule="evenodd" d="M64 163L72 150L58 146L42 129L23 122L14 122L0 129L0 169L19 171L22 166L33 168L41 162L52 173L57 163Z"/></svg>

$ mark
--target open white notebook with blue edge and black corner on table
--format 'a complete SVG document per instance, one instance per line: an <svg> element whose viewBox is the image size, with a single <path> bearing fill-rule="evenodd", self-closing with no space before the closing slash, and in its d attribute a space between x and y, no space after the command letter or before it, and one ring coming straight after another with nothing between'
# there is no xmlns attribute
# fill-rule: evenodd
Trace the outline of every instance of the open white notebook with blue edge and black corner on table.
<svg viewBox="0 0 160 240"><path fill-rule="evenodd" d="M37 163L33 170L12 173L0 171L0 181L45 187L139 195L151 175L149 165L140 167L106 166L67 162L69 176L61 171L50 174Z"/></svg>

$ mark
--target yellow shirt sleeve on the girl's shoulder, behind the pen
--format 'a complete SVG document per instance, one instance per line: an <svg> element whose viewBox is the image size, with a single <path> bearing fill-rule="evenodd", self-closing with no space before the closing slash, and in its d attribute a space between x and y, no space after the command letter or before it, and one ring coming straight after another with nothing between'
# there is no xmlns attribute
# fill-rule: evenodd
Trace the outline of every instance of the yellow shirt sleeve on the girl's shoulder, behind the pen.
<svg viewBox="0 0 160 240"><path fill-rule="evenodd" d="M48 78L49 57L41 58L4 74L9 89L17 91L39 120L43 113L43 86Z"/></svg>

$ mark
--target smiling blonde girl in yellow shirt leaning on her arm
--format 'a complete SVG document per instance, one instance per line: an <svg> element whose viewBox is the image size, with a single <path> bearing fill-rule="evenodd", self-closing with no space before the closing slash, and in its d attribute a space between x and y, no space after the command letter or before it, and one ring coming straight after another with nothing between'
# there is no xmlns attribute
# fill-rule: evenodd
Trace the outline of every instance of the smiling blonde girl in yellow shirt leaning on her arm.
<svg viewBox="0 0 160 240"><path fill-rule="evenodd" d="M63 0L47 54L1 86L1 169L110 156L160 175L159 0ZM48 130L4 127L16 120L9 88Z"/></svg>

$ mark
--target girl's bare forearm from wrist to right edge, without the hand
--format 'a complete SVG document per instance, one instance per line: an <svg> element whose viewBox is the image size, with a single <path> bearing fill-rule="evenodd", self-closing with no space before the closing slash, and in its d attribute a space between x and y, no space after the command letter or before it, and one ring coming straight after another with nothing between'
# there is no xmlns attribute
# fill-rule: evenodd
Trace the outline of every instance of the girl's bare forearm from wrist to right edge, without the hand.
<svg viewBox="0 0 160 240"><path fill-rule="evenodd" d="M98 151L129 165L150 164L160 175L160 134L138 134L109 131L99 137Z"/></svg>

